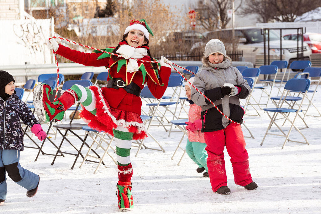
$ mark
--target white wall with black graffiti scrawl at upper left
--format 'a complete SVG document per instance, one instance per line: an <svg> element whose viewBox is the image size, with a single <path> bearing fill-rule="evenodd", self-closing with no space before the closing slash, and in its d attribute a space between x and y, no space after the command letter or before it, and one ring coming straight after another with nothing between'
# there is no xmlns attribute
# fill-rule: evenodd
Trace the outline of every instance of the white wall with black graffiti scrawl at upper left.
<svg viewBox="0 0 321 214"><path fill-rule="evenodd" d="M1 0L3 1L3 0ZM46 42L50 37L50 19L0 20L1 60L3 65L51 63Z"/></svg>

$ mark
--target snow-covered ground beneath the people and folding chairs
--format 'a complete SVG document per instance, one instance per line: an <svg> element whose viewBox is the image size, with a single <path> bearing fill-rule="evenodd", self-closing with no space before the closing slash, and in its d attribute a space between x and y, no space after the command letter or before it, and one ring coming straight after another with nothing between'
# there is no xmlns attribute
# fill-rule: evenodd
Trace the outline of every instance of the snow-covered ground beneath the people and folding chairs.
<svg viewBox="0 0 321 214"><path fill-rule="evenodd" d="M255 97L259 95L259 90L254 91ZM314 103L318 108L321 107L320 91L316 94ZM143 108L147 109L145 106ZM249 111L251 112L254 113ZM303 129L302 133L310 145L287 142L284 149L281 149L284 138L272 135L268 135L263 146L260 146L270 121L266 113L260 113L260 117L244 117L247 127L255 136L255 139L246 138L246 148L251 175L258 184L256 190L248 191L234 184L230 158L225 150L231 194L214 193L209 178L196 172L197 165L186 154L180 166L177 166L182 150L178 150L174 160L171 160L182 133L174 132L168 137L162 127L153 126L150 132L166 152L142 149L138 157L135 157L137 148L132 147L132 192L135 208L130 213L320 213L321 118L306 117L309 128ZM316 111L311 108L310 113ZM70 112L67 114L69 116ZM65 121L67 122L68 120ZM299 127L303 126L299 119L297 122ZM284 126L285 129L287 127L289 124ZM47 129L46 125L43 128ZM275 126L273 130L276 131ZM248 136L246 129L243 128L243 132ZM54 140L54 135L51 136L56 144L62 139L58 136ZM295 130L291 136L302 139ZM77 138L72 135L68 138L80 147L81 142ZM36 140L34 136L33 139ZM185 146L186 138L183 142ZM150 137L145 143L157 148ZM25 146L32 145L25 138ZM46 141L43 150L48 153L56 152L49 141ZM62 150L75 151L67 142L64 142ZM87 150L84 147L83 153ZM33 198L28 198L25 189L7 178L8 194L4 205L0 206L0 213L119 213L116 196L117 169L108 156L105 158L106 165L93 174L96 163L86 162L79 168L82 162L82 158L79 158L75 168L71 170L74 156L57 157L52 166L53 156L40 155L34 162L37 152L38 150L25 148L21 153L20 163L22 167L40 175L38 193ZM101 154L102 150L98 152Z"/></svg>

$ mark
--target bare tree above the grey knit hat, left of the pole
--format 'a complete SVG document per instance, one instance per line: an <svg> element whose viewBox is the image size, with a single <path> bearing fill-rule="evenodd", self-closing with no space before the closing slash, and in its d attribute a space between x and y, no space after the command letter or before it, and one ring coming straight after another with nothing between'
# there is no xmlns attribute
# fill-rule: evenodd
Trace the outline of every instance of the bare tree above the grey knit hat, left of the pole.
<svg viewBox="0 0 321 214"><path fill-rule="evenodd" d="M237 11L242 5L235 8ZM198 13L197 20L205 30L226 28L230 18L227 17L227 10L232 9L232 0L199 0L195 6Z"/></svg>

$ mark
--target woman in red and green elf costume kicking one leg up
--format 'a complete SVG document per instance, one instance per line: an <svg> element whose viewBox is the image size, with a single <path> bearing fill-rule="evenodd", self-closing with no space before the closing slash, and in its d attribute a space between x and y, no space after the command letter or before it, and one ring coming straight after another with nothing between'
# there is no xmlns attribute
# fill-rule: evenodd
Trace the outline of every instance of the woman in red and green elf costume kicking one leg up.
<svg viewBox="0 0 321 214"><path fill-rule="evenodd" d="M115 137L118 162L117 197L120 210L130 210L134 207L131 193L133 169L129 158L132 140L147 137L140 117L140 92L147 83L152 94L161 98L171 72L171 62L165 57L161 56L159 64L152 58L148 47L149 33L153 36L144 19L132 20L117 47L104 49L121 57L100 51L82 53L50 39L49 47L56 54L86 66L108 67L108 85L101 89L97 85L89 88L73 85L53 103L48 98L48 94L52 93L50 86L38 85L33 93L40 121L61 120L65 110L79 101L84 107L80 116L88 126Z"/></svg>

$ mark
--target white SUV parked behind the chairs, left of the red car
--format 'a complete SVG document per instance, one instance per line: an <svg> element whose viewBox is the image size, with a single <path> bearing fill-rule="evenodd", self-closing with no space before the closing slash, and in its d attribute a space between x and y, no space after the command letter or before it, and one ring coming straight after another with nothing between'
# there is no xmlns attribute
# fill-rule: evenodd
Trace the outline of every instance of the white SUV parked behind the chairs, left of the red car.
<svg viewBox="0 0 321 214"><path fill-rule="evenodd" d="M234 29L235 37L237 37L239 44L238 49L243 50L243 57L245 61L256 64L256 55L264 55L264 42L261 28L243 27ZM206 41L210 39L226 39L232 38L232 29L214 30L204 33ZM280 56L280 34L274 30L270 30L270 56ZM231 41L231 40L230 40ZM205 43L206 44L206 43ZM267 42L266 42L267 48ZM291 40L284 40L282 38L282 57L289 63L297 59L297 42ZM302 47L299 47L299 53L302 53ZM266 50L267 52L267 50ZM309 60L311 49L307 44L303 46L303 57ZM275 57L275 58L278 58Z"/></svg>

